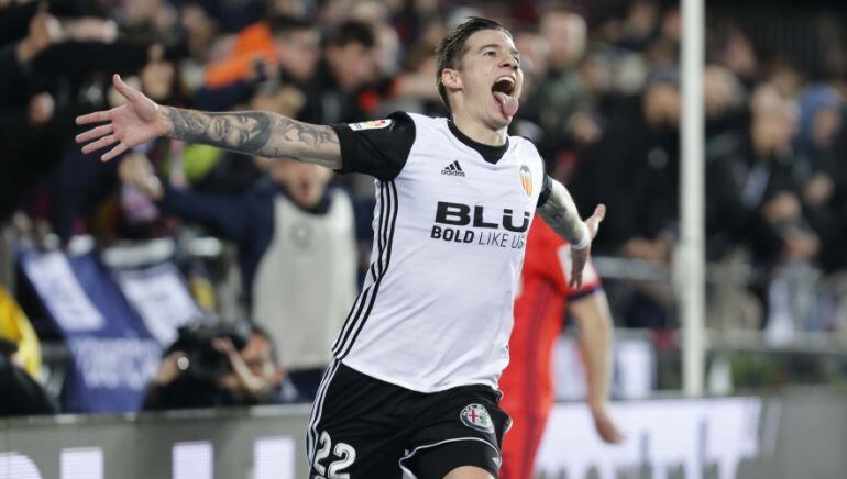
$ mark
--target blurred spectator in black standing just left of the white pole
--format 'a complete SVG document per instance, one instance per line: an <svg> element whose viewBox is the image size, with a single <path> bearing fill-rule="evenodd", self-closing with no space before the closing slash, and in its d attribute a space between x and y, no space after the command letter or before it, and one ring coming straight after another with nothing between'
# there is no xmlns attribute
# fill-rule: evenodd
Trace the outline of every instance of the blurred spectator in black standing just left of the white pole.
<svg viewBox="0 0 847 479"><path fill-rule="evenodd" d="M680 91L673 70L651 75L644 93L622 101L602 144L586 153L569 185L583 201L609 207L597 250L670 265L676 238ZM607 185L616 185L607 188ZM631 281L627 327L673 327L673 292Z"/></svg>

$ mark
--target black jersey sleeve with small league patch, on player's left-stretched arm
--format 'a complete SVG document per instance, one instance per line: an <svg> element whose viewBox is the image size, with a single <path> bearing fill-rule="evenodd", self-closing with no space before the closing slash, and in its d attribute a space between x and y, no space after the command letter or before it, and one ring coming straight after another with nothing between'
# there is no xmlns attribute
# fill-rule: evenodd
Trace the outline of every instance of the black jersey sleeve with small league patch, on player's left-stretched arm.
<svg viewBox="0 0 847 479"><path fill-rule="evenodd" d="M397 177L415 143L415 122L403 112L384 120L331 125L341 145L339 172L362 172L383 181Z"/></svg>

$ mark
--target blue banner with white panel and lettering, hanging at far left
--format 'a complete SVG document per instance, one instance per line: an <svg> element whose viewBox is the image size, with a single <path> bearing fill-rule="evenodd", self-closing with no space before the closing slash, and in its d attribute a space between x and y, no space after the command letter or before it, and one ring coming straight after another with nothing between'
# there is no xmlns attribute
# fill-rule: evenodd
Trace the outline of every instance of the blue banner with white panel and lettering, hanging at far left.
<svg viewBox="0 0 847 479"><path fill-rule="evenodd" d="M65 336L68 412L136 411L163 345L94 253L25 250L23 271Z"/></svg>

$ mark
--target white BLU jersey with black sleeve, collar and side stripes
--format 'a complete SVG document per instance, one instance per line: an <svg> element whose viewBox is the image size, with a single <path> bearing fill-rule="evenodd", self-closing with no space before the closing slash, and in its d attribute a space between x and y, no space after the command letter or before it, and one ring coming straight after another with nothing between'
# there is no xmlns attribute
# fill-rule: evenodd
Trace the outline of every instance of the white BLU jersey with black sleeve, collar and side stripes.
<svg viewBox="0 0 847 479"><path fill-rule="evenodd" d="M535 145L483 145L407 113L333 129L341 171L376 178L371 265L333 354L415 391L496 389L527 232L549 193Z"/></svg>

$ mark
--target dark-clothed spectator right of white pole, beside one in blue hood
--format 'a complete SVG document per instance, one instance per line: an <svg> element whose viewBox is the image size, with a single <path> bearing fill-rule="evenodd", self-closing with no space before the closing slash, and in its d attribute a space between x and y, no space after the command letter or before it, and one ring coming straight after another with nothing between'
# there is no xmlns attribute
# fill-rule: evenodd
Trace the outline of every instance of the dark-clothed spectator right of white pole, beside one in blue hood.
<svg viewBox="0 0 847 479"><path fill-rule="evenodd" d="M818 241L804 218L791 141L795 110L774 87L759 87L749 132L735 147L719 145L707 171L711 231L746 244L757 264L772 268L788 258L812 260Z"/></svg>

